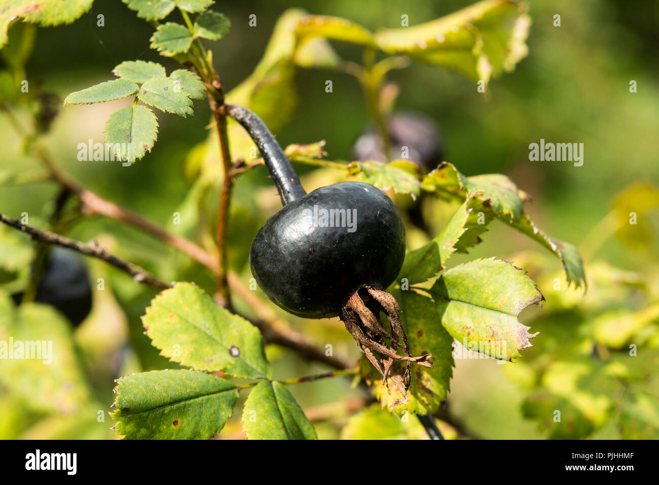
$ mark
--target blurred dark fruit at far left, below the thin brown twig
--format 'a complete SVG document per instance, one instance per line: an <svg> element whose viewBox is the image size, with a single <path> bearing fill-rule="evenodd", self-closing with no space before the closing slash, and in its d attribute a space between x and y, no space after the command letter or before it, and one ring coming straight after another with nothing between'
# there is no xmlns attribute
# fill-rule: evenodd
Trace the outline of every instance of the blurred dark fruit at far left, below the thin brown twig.
<svg viewBox="0 0 659 485"><path fill-rule="evenodd" d="M13 295L16 304L22 296L22 292ZM74 327L80 325L92 309L92 288L82 259L67 249L51 248L34 301L54 306Z"/></svg>

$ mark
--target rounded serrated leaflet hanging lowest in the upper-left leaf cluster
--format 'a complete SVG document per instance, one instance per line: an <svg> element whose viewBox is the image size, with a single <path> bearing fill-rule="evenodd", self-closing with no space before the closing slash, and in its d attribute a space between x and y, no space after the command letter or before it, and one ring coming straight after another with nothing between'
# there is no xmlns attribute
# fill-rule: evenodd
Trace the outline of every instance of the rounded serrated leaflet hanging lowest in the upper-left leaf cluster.
<svg viewBox="0 0 659 485"><path fill-rule="evenodd" d="M105 141L113 144L120 160L134 162L151 151L158 136L158 119L146 106L127 106L105 123Z"/></svg>

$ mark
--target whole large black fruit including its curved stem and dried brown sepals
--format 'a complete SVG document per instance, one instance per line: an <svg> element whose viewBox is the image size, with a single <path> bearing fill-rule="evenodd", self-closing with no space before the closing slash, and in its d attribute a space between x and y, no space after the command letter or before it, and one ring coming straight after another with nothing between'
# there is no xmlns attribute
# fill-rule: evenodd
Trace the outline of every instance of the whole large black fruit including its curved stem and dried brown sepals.
<svg viewBox="0 0 659 485"><path fill-rule="evenodd" d="M411 363L432 364L430 354L411 356L398 304L385 290L405 259L405 226L397 207L368 183L341 182L306 193L263 121L241 106L224 109L258 146L283 205L250 248L250 268L261 290L300 317L340 316L387 386L394 360L406 361L403 375L391 376L405 394Z"/></svg>

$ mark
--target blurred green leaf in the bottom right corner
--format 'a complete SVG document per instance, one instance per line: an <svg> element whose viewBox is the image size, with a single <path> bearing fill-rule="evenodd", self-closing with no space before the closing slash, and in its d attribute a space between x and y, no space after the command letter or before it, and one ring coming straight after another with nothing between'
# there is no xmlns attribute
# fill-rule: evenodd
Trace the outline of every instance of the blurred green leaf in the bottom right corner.
<svg viewBox="0 0 659 485"><path fill-rule="evenodd" d="M618 420L622 439L659 439L659 403L641 391L625 395Z"/></svg>

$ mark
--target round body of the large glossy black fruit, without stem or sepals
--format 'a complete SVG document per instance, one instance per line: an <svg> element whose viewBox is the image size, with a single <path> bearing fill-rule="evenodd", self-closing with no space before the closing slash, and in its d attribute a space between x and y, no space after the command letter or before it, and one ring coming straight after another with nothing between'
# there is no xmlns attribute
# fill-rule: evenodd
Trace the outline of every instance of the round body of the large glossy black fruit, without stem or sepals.
<svg viewBox="0 0 659 485"><path fill-rule="evenodd" d="M343 182L268 219L252 242L250 267L277 306L322 318L339 315L362 284L389 286L404 257L405 226L391 199L368 183Z"/></svg>

